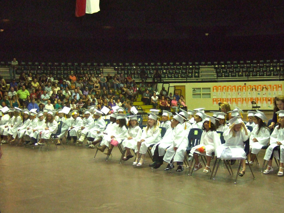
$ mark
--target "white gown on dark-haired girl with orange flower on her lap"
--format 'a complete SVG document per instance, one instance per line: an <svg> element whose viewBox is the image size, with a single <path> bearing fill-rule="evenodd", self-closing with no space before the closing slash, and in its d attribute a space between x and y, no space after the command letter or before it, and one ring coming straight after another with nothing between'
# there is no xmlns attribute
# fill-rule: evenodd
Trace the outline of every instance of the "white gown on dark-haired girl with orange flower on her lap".
<svg viewBox="0 0 284 213"><path fill-rule="evenodd" d="M209 130L208 132L206 132L206 130L203 130L201 139L200 139L200 144L197 146L194 146L191 149L190 153L193 154L195 152L197 154L212 156L212 152L215 152L216 154L216 148L220 145L221 145L221 140L216 131ZM205 147L205 153L195 151L195 149L202 147L202 146Z"/></svg>

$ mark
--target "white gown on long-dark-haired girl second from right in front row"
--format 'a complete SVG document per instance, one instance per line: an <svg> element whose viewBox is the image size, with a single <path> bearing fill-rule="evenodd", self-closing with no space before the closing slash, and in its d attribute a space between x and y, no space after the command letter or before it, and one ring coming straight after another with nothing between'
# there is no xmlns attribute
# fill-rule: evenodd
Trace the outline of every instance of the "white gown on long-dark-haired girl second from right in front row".
<svg viewBox="0 0 284 213"><path fill-rule="evenodd" d="M258 154L263 146L266 146L270 140L270 131L266 127L260 128L258 134L258 124L254 126L249 137L249 146L252 154ZM253 142L252 139L256 138L258 142Z"/></svg>

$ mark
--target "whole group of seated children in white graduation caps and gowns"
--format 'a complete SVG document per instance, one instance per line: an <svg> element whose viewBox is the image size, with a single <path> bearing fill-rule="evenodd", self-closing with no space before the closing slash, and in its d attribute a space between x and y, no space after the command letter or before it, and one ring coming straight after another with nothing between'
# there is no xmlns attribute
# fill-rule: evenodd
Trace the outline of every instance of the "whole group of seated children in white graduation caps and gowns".
<svg viewBox="0 0 284 213"><path fill-rule="evenodd" d="M262 147L269 145L266 150L264 159L268 160L268 167L264 174L273 171L272 158L273 155L279 159L280 168L278 175L283 176L283 127L284 127L284 111L280 110L278 126L275 127L273 133L267 128L264 120L267 120L263 112L248 111L249 120L253 119L254 127L252 132L247 130L240 109L231 111L233 117L228 121L230 126L225 122L224 112L213 112L213 117L206 115L204 108L196 109L196 111L181 110L179 114L172 117L171 112L163 111L162 122L159 121L158 110L149 113L147 127L141 130L138 124L138 118L135 115L135 107L131 108L134 116L126 117L123 109L118 113L112 113L108 116L110 124L106 126L105 118L108 112L99 111L96 108L84 110L84 118L80 118L76 110L70 112L70 108L64 107L58 110L58 116L55 116L53 110L47 110L44 113L36 113L34 109L24 110L23 118L20 116L20 108L9 109L4 107L1 109L3 116L0 121L0 133L3 135L3 143L16 141L16 139L25 139L25 144L44 145L45 139L49 139L52 133L57 131L57 121L63 122L61 134L59 138L64 137L67 131L67 140L74 138L77 143L83 143L87 139L87 146L94 149L97 143L100 146L97 149L110 155L114 146L121 144L126 149L125 156L122 160L129 160L133 157L131 149L136 153L133 166L142 166L145 162L145 154L148 147L154 144L151 149L153 155L153 163L149 166L159 168L163 162L168 165L165 170L174 168L176 162L177 171L183 171L183 159L188 146L188 133L191 128L201 128L203 130L200 144L193 147L190 151L195 159L193 171L202 168L199 162L198 154L206 155L206 166L203 172L208 173L210 170L210 160L212 153L218 158L241 160L242 170L240 176L245 174L245 158L244 141L250 138L250 154L249 164L253 164L256 154ZM137 111L137 110L136 110ZM157 111L157 112L156 112ZM154 113L153 113L154 112ZM64 116L65 114L65 116ZM72 116L72 117L71 117ZM194 121L193 121L193 119ZM95 119L95 120L94 120ZM248 122L247 125L253 125ZM161 137L159 127L166 128L164 137ZM220 137L216 131L222 131L225 143L221 144ZM77 140L77 138L79 138ZM60 141L57 142L60 145Z"/></svg>

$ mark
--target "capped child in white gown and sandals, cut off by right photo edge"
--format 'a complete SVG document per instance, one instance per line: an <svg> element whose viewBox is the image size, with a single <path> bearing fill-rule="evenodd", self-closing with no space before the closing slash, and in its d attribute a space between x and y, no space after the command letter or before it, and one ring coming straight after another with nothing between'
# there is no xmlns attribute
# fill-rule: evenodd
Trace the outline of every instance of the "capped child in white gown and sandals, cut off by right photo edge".
<svg viewBox="0 0 284 213"><path fill-rule="evenodd" d="M284 163L284 110L279 110L276 112L278 114L278 123L272 134L270 135L270 145L266 149L264 160L268 160L267 168L263 171L264 174L268 174L273 171L272 159L273 156L279 159L280 155L280 165L278 176L283 176L283 163Z"/></svg>

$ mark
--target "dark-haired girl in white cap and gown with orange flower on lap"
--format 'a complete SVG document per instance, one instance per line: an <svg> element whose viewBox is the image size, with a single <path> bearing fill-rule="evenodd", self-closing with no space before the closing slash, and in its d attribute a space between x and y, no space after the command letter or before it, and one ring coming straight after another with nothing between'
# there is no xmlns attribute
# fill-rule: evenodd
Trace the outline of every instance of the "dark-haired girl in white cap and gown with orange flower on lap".
<svg viewBox="0 0 284 213"><path fill-rule="evenodd" d="M195 159L195 166L193 171L197 171L202 168L201 163L198 159L198 154L202 154L206 156L206 166L203 170L204 173L208 173L210 170L210 161L212 157L212 153L216 153L216 148L221 145L221 140L219 135L216 132L215 123L218 122L217 118L207 117L204 119L203 127L202 127L202 135L200 139L200 144L193 147L190 151L193 154Z"/></svg>

